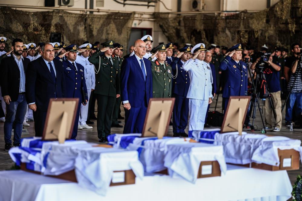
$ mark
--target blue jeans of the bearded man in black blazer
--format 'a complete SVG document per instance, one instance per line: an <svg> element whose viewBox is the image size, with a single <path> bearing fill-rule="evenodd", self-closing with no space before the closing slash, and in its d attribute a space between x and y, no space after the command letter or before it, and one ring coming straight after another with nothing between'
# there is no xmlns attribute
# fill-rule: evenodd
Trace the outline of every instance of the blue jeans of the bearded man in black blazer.
<svg viewBox="0 0 302 201"><path fill-rule="evenodd" d="M6 104L6 116L4 123L4 141L11 144L11 130L15 121L14 144L20 143L23 129L24 116L27 110L25 94L19 95L18 100Z"/></svg>

